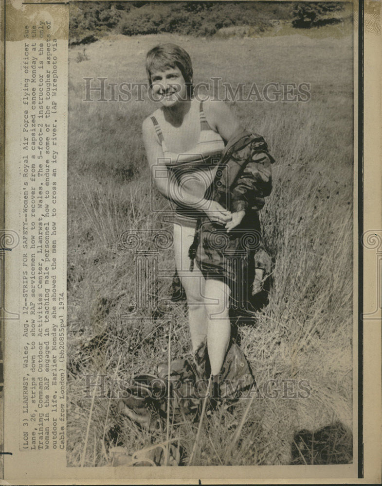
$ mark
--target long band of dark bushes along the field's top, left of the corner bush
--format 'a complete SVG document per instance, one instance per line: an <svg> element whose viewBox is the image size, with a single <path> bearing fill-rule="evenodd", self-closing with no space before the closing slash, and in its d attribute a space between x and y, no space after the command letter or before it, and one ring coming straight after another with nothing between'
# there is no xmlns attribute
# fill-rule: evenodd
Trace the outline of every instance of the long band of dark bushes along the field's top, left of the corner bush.
<svg viewBox="0 0 382 486"><path fill-rule="evenodd" d="M74 2L70 44L91 42L111 31L124 35L168 32L211 36L222 27L240 25L264 31L273 20L290 20L291 12L290 2Z"/></svg>

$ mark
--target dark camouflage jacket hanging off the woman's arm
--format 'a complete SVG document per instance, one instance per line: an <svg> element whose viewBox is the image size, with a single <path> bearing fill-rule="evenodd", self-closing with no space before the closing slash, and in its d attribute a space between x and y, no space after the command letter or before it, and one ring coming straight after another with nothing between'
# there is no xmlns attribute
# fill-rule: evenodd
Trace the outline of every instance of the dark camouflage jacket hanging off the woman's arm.
<svg viewBox="0 0 382 486"><path fill-rule="evenodd" d="M260 135L243 130L229 140L212 185L211 198L232 212L244 209L246 215L230 233L224 225L207 216L199 218L189 249L191 270L196 259L205 278L222 278L230 285L242 281L244 274L239 277L239 271L248 274L247 256L260 248L257 211L272 191L273 162Z"/></svg>

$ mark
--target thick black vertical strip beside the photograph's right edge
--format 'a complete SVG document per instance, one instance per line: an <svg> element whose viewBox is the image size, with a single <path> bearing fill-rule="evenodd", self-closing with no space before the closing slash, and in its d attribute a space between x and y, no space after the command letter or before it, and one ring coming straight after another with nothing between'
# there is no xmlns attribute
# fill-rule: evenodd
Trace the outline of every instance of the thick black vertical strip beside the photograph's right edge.
<svg viewBox="0 0 382 486"><path fill-rule="evenodd" d="M358 5L358 477L364 477L364 0Z"/></svg>

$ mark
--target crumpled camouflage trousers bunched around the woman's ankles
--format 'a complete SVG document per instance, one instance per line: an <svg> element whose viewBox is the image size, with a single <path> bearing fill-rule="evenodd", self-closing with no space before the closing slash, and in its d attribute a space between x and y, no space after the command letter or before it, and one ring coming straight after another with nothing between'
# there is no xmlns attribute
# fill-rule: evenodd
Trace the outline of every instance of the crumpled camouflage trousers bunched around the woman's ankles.
<svg viewBox="0 0 382 486"><path fill-rule="evenodd" d="M172 423L180 423L187 416L197 420L201 399L208 395L206 344L200 346L194 360L172 361L169 371L168 377L168 365L163 363L158 365L157 375L134 377L130 382L130 396L119 401L118 411L151 432L164 430L167 403ZM254 378L244 353L233 343L224 360L218 396L214 399L237 399L241 391L253 384Z"/></svg>

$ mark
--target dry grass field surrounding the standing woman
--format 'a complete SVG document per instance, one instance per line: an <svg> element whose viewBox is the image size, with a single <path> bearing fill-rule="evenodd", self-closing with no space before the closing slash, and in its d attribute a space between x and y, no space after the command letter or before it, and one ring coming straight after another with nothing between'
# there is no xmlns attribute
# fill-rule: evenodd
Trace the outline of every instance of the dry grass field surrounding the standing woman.
<svg viewBox="0 0 382 486"><path fill-rule="evenodd" d="M176 42L190 53L196 82L221 76L233 85L311 85L308 103L232 104L242 124L267 139L277 162L273 193L261 211L264 244L275 262L273 285L269 303L252 322L240 324L241 347L259 387L269 380L307 380L309 397L252 400L234 448L229 446L248 399L239 399L233 413L221 408L203 422L194 464L352 461L353 51L351 35L339 29L231 39L117 35L85 52L83 46L70 49L68 465L106 466L110 447L132 453L166 436L118 415L108 390L92 401L93 389L85 393L86 375L93 380L104 375L111 383L153 373L167 360L174 315L171 358L190 353L186 306L163 304L171 278L158 282L156 309L140 311L129 322L119 317L135 298L134 252L121 245L124 232L171 230L161 212L150 210L141 123L155 106L82 101L84 77L146 81L145 54L160 41ZM159 194L154 200L156 208L167 207ZM153 248L147 236L140 249ZM171 247L161 253L160 265L174 269ZM191 421L172 427L184 465L196 428ZM305 435L297 437L299 431Z"/></svg>

